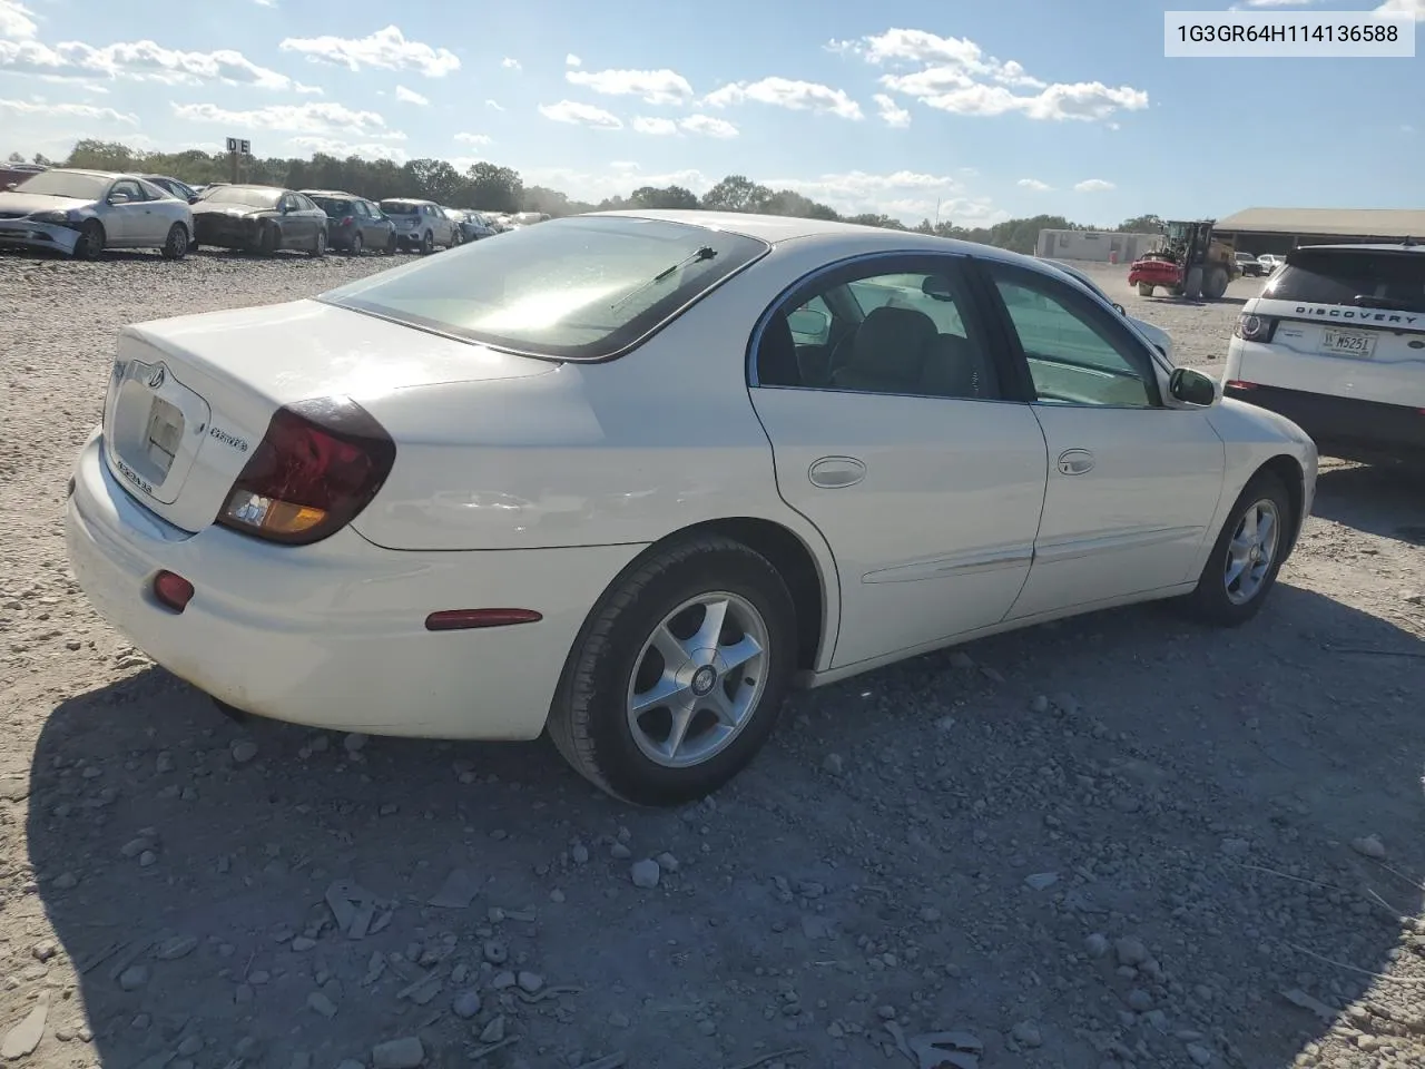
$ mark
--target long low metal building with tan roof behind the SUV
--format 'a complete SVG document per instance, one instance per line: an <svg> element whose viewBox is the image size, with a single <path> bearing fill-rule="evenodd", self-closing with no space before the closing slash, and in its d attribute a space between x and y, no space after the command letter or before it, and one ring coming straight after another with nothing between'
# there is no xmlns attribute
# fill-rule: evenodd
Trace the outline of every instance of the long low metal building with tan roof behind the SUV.
<svg viewBox="0 0 1425 1069"><path fill-rule="evenodd" d="M1297 245L1425 242L1425 208L1247 208L1218 220L1214 237L1254 257Z"/></svg>

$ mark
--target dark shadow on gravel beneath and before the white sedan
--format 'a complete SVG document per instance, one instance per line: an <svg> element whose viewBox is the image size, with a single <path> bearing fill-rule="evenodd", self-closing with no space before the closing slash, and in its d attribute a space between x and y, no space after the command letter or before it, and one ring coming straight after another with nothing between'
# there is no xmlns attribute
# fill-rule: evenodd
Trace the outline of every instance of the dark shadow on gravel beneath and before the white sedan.
<svg viewBox="0 0 1425 1069"><path fill-rule="evenodd" d="M1418 668L1357 674L1322 644L1415 640L1290 584L1241 630L1170 620L1102 613L795 696L758 761L681 812L613 802L543 744L234 724L142 671L60 703L34 753L30 862L78 974L50 1026L87 1021L114 1066L336 1065L406 1035L452 1065L496 1016L550 1065L765 1043L849 1066L874 1048L828 1022L881 1036L878 1003L1012 1059L1013 1005L1072 1069L1157 1063L1139 1042L1180 1060L1188 1032L1287 1065L1327 1025L1278 989L1344 1009L1371 983L1290 946L1379 971L1401 925L1351 912L1359 888L1419 909L1344 844L1374 831L1425 868ZM634 887L630 855L660 851L660 887ZM1043 869L1057 887L1026 889ZM362 938L335 884L373 899ZM1096 932L1150 956L1086 955ZM1086 1001L1026 981L1060 968ZM516 971L570 989L532 1003Z"/></svg>

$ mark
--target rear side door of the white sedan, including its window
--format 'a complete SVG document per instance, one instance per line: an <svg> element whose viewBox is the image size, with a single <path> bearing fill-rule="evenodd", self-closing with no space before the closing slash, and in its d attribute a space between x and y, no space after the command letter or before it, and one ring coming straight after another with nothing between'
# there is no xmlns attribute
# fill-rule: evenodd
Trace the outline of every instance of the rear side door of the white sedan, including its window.
<svg viewBox="0 0 1425 1069"><path fill-rule="evenodd" d="M778 490L835 556L838 667L995 624L1029 573L1045 439L963 264L858 258L804 279L754 335Z"/></svg>

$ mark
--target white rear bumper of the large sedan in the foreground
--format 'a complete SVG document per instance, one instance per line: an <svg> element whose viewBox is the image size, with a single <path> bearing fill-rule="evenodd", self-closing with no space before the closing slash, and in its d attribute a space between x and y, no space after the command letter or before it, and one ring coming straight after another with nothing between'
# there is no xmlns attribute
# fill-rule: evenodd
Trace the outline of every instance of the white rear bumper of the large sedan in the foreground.
<svg viewBox="0 0 1425 1069"><path fill-rule="evenodd" d="M305 547L224 527L188 534L108 473L98 432L66 503L88 600L172 674L248 713L345 731L534 738L604 586L641 547L406 553L352 529ZM151 593L194 584L180 614ZM428 631L440 609L526 607L539 623Z"/></svg>

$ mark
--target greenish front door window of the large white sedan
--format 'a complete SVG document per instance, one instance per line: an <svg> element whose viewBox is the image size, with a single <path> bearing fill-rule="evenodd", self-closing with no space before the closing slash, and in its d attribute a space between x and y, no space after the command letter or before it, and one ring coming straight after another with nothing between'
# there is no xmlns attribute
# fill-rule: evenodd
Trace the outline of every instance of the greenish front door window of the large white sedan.
<svg viewBox="0 0 1425 1069"><path fill-rule="evenodd" d="M989 271L1040 402L1116 408L1157 403L1151 358L1102 309L1039 272L998 264Z"/></svg>

